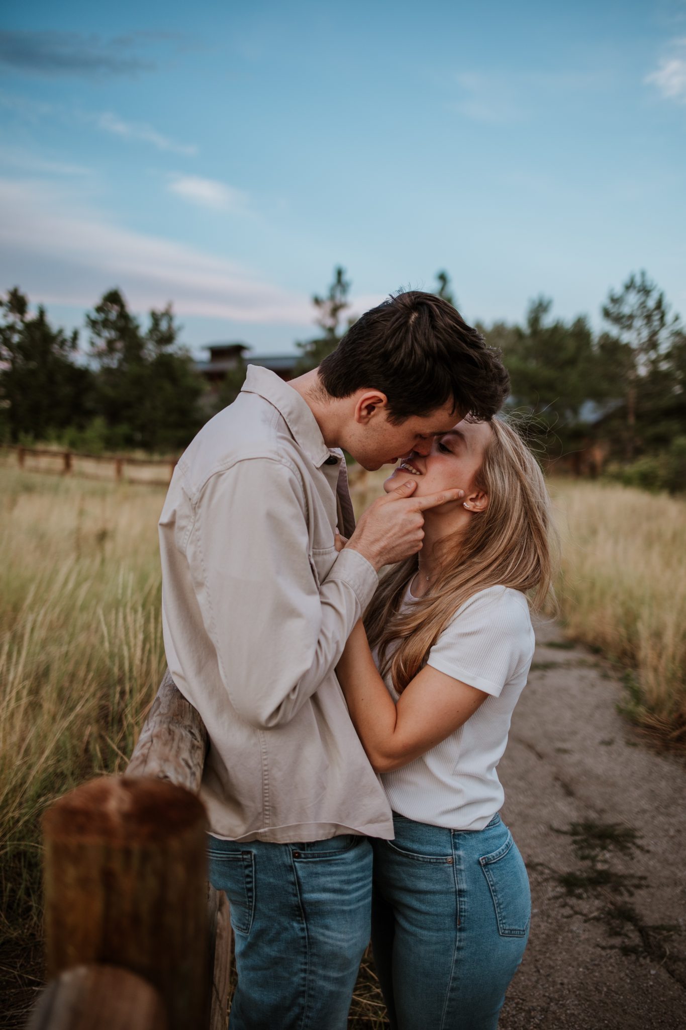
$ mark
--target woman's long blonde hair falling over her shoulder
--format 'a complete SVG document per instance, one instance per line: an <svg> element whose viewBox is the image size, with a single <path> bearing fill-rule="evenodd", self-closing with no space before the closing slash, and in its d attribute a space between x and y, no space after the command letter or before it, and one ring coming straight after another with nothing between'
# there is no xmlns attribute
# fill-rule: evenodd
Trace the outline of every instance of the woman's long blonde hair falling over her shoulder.
<svg viewBox="0 0 686 1030"><path fill-rule="evenodd" d="M552 594L550 497L543 473L518 433L502 418L491 422L491 439L474 485L489 497L466 529L441 541L440 571L431 589L400 612L407 583L418 570L413 555L385 576L365 617L369 646L378 649L383 676L389 670L402 692L426 663L429 651L461 605L490 586L508 586L539 610ZM400 645L389 655L389 646Z"/></svg>

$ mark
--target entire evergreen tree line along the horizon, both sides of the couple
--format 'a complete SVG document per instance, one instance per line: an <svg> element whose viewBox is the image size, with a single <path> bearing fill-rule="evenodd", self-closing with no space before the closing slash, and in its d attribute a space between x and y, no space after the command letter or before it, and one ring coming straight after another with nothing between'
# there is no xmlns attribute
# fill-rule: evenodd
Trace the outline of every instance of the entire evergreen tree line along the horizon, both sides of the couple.
<svg viewBox="0 0 686 1030"><path fill-rule="evenodd" d="M352 324L351 283L342 268L315 295L318 333L298 343L300 371L315 368ZM458 306L441 271L434 291ZM143 325L117 289L86 315L78 334L53 329L45 310L10 289L0 300L0 439L56 440L74 449L182 449L203 422L230 403L245 369L227 375L208 402L171 306ZM578 471L610 459L644 486L681 489L686 481L686 331L645 272L630 275L603 305L603 328L585 316L554 317L533 301L522 324L479 325L511 376L508 408L548 458ZM85 358L85 359L84 359ZM591 460L588 455L595 455Z"/></svg>

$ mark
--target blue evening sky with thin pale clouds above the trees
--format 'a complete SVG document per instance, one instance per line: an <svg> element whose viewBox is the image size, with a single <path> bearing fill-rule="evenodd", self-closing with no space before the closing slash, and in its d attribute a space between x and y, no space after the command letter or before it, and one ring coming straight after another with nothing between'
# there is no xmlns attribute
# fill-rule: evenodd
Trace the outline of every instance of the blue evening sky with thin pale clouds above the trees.
<svg viewBox="0 0 686 1030"><path fill-rule="evenodd" d="M358 312L445 268L598 323L645 268L686 316L686 0L56 11L0 32L0 288L56 321L118 285L289 351L336 264Z"/></svg>

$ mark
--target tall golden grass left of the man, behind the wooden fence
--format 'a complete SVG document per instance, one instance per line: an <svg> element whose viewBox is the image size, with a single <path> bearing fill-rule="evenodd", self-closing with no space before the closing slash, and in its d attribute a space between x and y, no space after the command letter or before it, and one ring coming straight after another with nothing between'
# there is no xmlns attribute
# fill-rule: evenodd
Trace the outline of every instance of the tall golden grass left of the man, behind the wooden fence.
<svg viewBox="0 0 686 1030"><path fill-rule="evenodd" d="M38 813L125 760L157 688L163 500L154 488L0 469L0 911L8 923L39 916Z"/></svg>

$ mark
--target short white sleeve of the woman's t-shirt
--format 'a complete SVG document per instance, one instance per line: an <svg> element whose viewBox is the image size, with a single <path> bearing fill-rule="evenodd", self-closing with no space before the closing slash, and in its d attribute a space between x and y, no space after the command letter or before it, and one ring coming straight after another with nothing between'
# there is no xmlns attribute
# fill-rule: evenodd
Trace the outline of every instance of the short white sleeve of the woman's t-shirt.
<svg viewBox="0 0 686 1030"><path fill-rule="evenodd" d="M531 663L533 652L526 597L491 587L459 609L431 648L427 664L498 697L522 664Z"/></svg>

